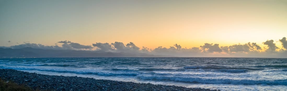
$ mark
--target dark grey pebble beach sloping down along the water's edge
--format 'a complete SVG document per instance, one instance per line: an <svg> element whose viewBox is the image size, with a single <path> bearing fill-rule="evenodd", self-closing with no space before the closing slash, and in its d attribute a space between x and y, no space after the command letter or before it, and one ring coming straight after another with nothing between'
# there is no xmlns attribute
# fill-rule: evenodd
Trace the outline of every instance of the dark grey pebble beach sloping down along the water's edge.
<svg viewBox="0 0 287 91"><path fill-rule="evenodd" d="M98 80L77 76L51 76L11 69L0 69L0 78L48 91L220 91L204 88L155 85L113 80Z"/></svg>

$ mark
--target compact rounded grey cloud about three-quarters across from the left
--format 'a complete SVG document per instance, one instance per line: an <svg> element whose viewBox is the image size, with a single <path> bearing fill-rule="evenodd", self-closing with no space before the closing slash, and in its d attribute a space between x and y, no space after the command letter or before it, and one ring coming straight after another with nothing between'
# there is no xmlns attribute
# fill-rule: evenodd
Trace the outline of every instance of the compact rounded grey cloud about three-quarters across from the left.
<svg viewBox="0 0 287 91"><path fill-rule="evenodd" d="M208 44L205 43L203 46L200 46L203 50L203 52L222 52L222 50L219 48L219 44Z"/></svg>

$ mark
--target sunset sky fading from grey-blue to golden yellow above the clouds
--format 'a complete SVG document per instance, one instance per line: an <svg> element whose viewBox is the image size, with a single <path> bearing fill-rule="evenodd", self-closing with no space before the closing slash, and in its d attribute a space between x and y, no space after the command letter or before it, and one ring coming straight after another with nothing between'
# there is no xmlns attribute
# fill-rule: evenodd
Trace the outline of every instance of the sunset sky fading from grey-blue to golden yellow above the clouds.
<svg viewBox="0 0 287 91"><path fill-rule="evenodd" d="M130 52L125 49L129 47L157 54L163 51L160 49L174 47L194 48L192 51L198 48L200 56L232 57L229 54L239 50L232 46L250 44L251 48L256 43L253 46L260 47L257 54L285 53L285 41L280 40L287 37L287 1L0 0L0 32L3 48L36 44L57 49ZM195 55L170 52L176 56ZM252 57L250 49L239 52Z"/></svg>

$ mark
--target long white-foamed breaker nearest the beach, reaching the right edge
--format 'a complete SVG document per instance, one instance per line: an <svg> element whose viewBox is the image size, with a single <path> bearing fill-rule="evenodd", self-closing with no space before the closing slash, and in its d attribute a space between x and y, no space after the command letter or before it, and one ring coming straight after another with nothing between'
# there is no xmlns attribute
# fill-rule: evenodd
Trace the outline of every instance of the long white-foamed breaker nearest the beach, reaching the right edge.
<svg viewBox="0 0 287 91"><path fill-rule="evenodd" d="M204 84L267 84L267 85L287 85L287 79L284 80L248 80L248 79L213 79L197 77L168 77L168 76L138 76L142 80L170 80L177 82L195 82Z"/></svg>

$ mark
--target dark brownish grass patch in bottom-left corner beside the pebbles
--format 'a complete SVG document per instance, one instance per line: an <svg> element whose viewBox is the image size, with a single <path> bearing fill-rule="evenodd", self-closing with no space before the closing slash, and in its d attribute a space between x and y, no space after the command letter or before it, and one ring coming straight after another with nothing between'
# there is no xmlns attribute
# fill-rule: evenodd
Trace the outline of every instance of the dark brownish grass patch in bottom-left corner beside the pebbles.
<svg viewBox="0 0 287 91"><path fill-rule="evenodd" d="M0 91L38 91L33 90L24 84L18 85L13 81L2 80L0 78Z"/></svg>

